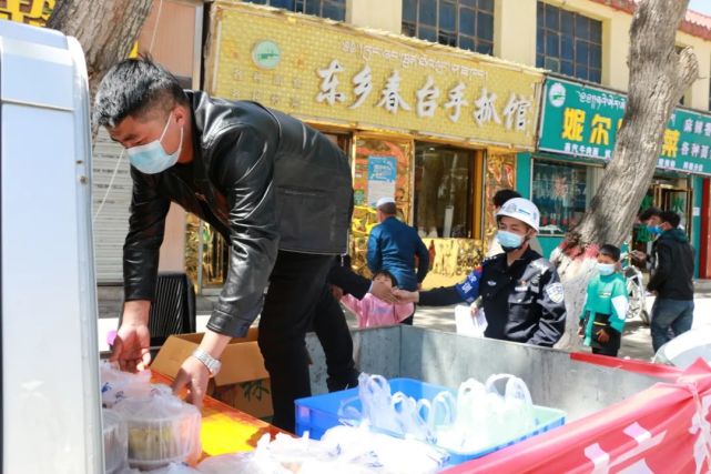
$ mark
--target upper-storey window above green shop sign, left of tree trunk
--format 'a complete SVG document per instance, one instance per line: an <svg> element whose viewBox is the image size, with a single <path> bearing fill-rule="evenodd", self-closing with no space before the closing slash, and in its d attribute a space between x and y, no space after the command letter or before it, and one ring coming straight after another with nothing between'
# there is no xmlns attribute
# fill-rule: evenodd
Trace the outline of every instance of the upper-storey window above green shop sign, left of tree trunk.
<svg viewBox="0 0 711 474"><path fill-rule="evenodd" d="M600 82L602 22L539 1L536 65Z"/></svg>

